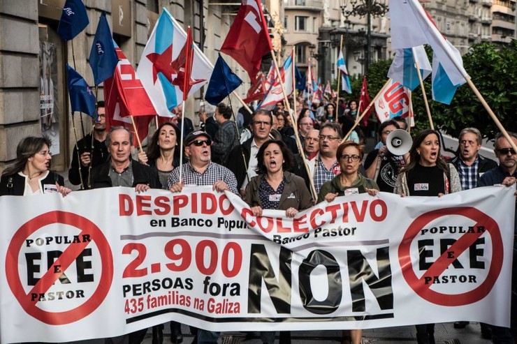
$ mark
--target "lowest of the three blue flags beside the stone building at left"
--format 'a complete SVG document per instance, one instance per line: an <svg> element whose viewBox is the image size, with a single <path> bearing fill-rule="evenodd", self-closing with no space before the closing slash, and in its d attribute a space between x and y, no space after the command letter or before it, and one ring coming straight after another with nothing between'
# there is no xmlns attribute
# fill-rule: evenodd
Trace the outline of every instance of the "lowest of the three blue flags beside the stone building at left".
<svg viewBox="0 0 517 344"><path fill-rule="evenodd" d="M95 96L86 80L66 63L66 80L72 112L85 112L95 118Z"/></svg>

